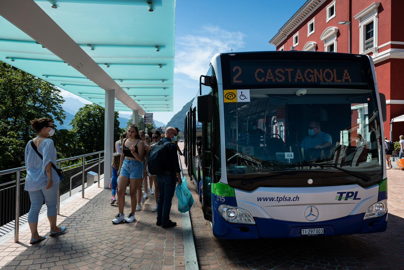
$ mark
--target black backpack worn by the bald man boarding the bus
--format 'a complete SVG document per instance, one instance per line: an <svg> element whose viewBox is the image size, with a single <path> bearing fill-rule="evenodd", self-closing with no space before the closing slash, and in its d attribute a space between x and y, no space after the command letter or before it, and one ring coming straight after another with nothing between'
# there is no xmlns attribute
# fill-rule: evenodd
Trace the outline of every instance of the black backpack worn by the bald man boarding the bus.
<svg viewBox="0 0 404 270"><path fill-rule="evenodd" d="M159 175L166 171L167 160L167 145L173 142L162 142L161 140L156 142L149 150L147 156L147 168L150 174Z"/></svg>

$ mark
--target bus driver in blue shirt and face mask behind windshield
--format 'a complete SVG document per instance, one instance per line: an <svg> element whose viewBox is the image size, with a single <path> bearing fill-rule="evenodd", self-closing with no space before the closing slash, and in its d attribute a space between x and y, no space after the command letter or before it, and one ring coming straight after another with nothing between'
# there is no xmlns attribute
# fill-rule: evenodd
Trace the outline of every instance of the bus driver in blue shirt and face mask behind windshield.
<svg viewBox="0 0 404 270"><path fill-rule="evenodd" d="M331 136L321 131L319 121L311 121L309 123L308 132L309 135L307 135L300 144L301 148L304 150L309 148L322 149L331 145Z"/></svg>

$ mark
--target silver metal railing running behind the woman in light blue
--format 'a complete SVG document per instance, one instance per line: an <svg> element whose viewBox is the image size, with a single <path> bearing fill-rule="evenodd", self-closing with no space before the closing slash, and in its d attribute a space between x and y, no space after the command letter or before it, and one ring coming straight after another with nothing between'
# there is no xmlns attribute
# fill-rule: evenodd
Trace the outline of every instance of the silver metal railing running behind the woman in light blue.
<svg viewBox="0 0 404 270"><path fill-rule="evenodd" d="M101 167L101 162L104 161L104 159L101 160L101 153L104 153L104 151L98 151L98 152L94 152L94 153L90 153L90 154L78 155L76 157L69 157L69 158L65 158L65 159L58 159L56 161L57 165L61 169L67 169L67 168L72 168L72 167L78 168L78 167L80 167L79 164L73 164L73 165L66 166L66 167L62 168L61 163L66 162L66 161L70 161L70 160L74 160L74 159L82 158L82 162L81 162L82 163L82 165L81 165L82 170L79 173L76 173L74 176L69 177L69 186L70 186L69 195L70 196L72 196L72 179L74 177L82 174L82 198L84 198L84 182L86 180L85 171L98 165L98 177L101 175L101 169L103 169L103 167ZM87 161L85 160L86 157L92 156L92 155L97 155L97 154L98 154L98 158L87 160ZM86 163L88 165L89 163L95 162L95 161L97 161L95 164L91 164L91 166L86 168ZM0 184L0 191L4 191L6 189L11 189L11 188L15 187L15 227L14 227L15 228L15 234L14 234L14 241L15 242L18 242L18 240L19 240L19 217L20 217L20 195L21 195L20 194L21 193L20 189L21 189L21 185L25 184L25 182L21 183L21 181L25 180L25 178L23 178L23 179L20 179L20 178L21 178L21 171L24 171L24 170L25 170L25 167L19 167L19 168L13 168L13 169L9 169L9 170L0 171L0 175L11 174L11 173L16 174L16 180L15 181L10 181L10 182L7 182L7 183ZM67 174L65 174L65 172L66 172L66 170L63 171L63 176L67 176ZM11 186L13 183L15 183L15 186L14 185ZM100 187L99 178L98 178L98 187ZM61 194L60 189L61 189L61 185L59 185L58 199L57 199L57 214L58 215L59 215L59 211L60 211L60 196L64 194L64 193ZM24 213L24 214L26 214L26 213Z"/></svg>

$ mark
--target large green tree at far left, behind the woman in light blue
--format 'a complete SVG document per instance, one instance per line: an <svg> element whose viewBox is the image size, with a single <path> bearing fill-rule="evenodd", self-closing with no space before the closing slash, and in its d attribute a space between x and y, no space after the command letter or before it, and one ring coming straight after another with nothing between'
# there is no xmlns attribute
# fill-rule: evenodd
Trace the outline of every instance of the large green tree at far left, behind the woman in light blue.
<svg viewBox="0 0 404 270"><path fill-rule="evenodd" d="M63 124L60 92L54 85L0 62L0 170L24 166L25 145L36 134L30 128L32 119L45 117Z"/></svg>

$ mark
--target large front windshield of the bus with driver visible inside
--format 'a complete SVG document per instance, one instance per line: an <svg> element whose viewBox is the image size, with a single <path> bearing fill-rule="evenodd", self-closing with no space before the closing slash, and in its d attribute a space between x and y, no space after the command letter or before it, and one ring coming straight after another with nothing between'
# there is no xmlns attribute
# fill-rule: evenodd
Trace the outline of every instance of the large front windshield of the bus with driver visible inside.
<svg viewBox="0 0 404 270"><path fill-rule="evenodd" d="M337 181L328 184L380 179L375 91L307 88L297 96L296 89L249 89L250 102L224 103L228 178L290 179L310 172Z"/></svg>

